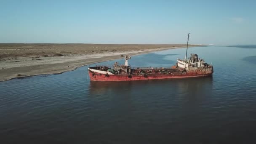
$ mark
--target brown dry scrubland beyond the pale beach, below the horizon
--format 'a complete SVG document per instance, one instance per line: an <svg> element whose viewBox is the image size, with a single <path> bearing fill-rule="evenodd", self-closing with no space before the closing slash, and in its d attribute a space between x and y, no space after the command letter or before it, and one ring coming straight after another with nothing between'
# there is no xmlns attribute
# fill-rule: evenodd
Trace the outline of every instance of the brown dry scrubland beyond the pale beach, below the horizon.
<svg viewBox="0 0 256 144"><path fill-rule="evenodd" d="M0 43L0 58L13 58L21 56L65 56L69 54L136 51L154 48L172 48L177 46L185 45Z"/></svg>

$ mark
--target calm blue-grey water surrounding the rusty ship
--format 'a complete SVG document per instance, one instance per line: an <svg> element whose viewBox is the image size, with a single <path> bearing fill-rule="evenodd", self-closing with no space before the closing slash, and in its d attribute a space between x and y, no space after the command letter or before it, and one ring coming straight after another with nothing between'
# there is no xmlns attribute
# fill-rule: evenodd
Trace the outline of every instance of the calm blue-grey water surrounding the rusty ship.
<svg viewBox="0 0 256 144"><path fill-rule="evenodd" d="M179 48L141 54L128 63L171 67L185 53ZM256 46L195 47L188 53L212 63L213 77L90 82L85 66L0 82L1 143L256 141Z"/></svg>

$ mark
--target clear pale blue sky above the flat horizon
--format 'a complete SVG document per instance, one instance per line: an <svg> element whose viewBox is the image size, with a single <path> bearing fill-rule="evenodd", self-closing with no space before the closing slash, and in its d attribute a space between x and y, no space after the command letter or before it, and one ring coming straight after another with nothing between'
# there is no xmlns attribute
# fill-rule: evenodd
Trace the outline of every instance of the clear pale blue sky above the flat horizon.
<svg viewBox="0 0 256 144"><path fill-rule="evenodd" d="M0 0L0 43L256 44L256 0Z"/></svg>

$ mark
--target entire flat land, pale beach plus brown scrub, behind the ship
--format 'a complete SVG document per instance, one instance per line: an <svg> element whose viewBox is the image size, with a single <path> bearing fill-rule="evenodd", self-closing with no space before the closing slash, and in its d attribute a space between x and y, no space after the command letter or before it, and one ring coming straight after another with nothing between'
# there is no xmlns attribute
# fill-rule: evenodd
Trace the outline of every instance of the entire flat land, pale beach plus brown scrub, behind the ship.
<svg viewBox="0 0 256 144"><path fill-rule="evenodd" d="M137 55L184 44L0 44L0 81L15 77L58 74L87 64L121 59L121 54ZM198 46L198 45L189 45Z"/></svg>

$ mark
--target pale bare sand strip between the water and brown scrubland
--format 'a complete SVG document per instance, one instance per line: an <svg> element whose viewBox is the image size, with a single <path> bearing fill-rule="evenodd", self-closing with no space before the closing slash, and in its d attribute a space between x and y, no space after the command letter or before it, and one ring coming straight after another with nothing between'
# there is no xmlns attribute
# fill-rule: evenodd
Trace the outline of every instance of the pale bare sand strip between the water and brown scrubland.
<svg viewBox="0 0 256 144"><path fill-rule="evenodd" d="M203 45L189 45L189 47L196 47ZM79 67L83 67L89 64L95 64L103 61L111 61L115 59L123 59L120 54L129 54L131 56L136 56L144 53L151 53L155 51L164 51L175 48L185 48L185 46L176 46L170 48L157 48L157 49L144 49L138 51L117 51L115 53L96 53L91 54L89 58L85 56L88 55L71 55L71 56L61 56L61 57L48 57L43 60L38 61L27 60L28 57L18 57L17 59L24 63L24 66L17 65L13 61L5 61L4 66L9 66L10 68L0 69L0 81L12 80L14 78L24 78L36 75L53 75L61 74L64 72L73 71ZM129 53L130 52L130 53ZM31 58L31 57L29 57ZM22 61L24 60L24 61ZM20 62L19 61L19 62ZM49 62L50 61L50 62ZM49 63L47 63L49 62ZM8 65L9 64L9 65ZM27 64L27 65L26 65Z"/></svg>

